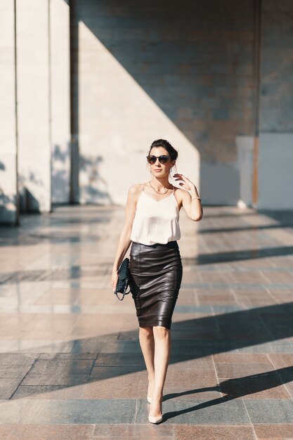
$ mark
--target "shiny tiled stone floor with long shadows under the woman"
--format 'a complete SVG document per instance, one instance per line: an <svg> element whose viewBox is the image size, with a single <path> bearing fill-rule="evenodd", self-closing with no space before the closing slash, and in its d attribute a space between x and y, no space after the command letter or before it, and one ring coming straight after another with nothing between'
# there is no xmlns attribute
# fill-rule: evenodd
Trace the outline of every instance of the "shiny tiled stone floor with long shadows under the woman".
<svg viewBox="0 0 293 440"><path fill-rule="evenodd" d="M181 211L164 422L148 422L120 207L0 229L0 439L293 439L293 213Z"/></svg>

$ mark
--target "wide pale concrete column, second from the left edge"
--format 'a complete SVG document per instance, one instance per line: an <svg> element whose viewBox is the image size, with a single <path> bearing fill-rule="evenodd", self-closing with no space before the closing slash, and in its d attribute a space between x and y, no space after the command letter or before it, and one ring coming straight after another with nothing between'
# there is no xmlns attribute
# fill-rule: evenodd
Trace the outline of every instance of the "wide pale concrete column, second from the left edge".
<svg viewBox="0 0 293 440"><path fill-rule="evenodd" d="M49 1L16 0L21 208L51 209Z"/></svg>

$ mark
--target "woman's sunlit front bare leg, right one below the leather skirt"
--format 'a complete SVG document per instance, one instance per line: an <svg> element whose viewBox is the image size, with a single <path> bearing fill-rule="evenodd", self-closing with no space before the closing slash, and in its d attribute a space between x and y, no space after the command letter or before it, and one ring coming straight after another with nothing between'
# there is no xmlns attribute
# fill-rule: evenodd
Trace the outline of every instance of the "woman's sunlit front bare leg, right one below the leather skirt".
<svg viewBox="0 0 293 440"><path fill-rule="evenodd" d="M155 387L150 415L159 416L162 414L162 396L171 352L171 334L169 329L161 325L153 327L152 330L155 338Z"/></svg>

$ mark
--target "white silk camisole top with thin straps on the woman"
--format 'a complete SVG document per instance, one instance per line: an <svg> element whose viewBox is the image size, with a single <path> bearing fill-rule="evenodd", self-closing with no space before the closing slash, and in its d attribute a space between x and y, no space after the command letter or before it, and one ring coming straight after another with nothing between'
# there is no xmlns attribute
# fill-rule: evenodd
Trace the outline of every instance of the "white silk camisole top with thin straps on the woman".
<svg viewBox="0 0 293 440"><path fill-rule="evenodd" d="M179 208L173 193L162 200L155 200L142 190L136 204L136 215L131 230L131 241L143 245L166 244L179 240Z"/></svg>

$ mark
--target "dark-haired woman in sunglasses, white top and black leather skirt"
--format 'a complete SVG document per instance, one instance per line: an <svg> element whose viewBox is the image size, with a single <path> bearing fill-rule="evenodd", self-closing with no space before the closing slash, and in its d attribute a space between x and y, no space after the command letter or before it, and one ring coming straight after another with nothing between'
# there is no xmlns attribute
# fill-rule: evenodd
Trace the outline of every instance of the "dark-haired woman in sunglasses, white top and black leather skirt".
<svg viewBox="0 0 293 440"><path fill-rule="evenodd" d="M148 153L151 180L129 188L125 224L119 238L111 285L117 285L118 268L130 250L131 294L139 323L139 342L148 370L151 423L162 422L162 396L171 348L171 317L182 279L178 243L179 211L193 221L202 219L202 204L195 185L183 176L176 188L169 183L178 153L164 139L154 141ZM188 193L190 191L190 193Z"/></svg>

